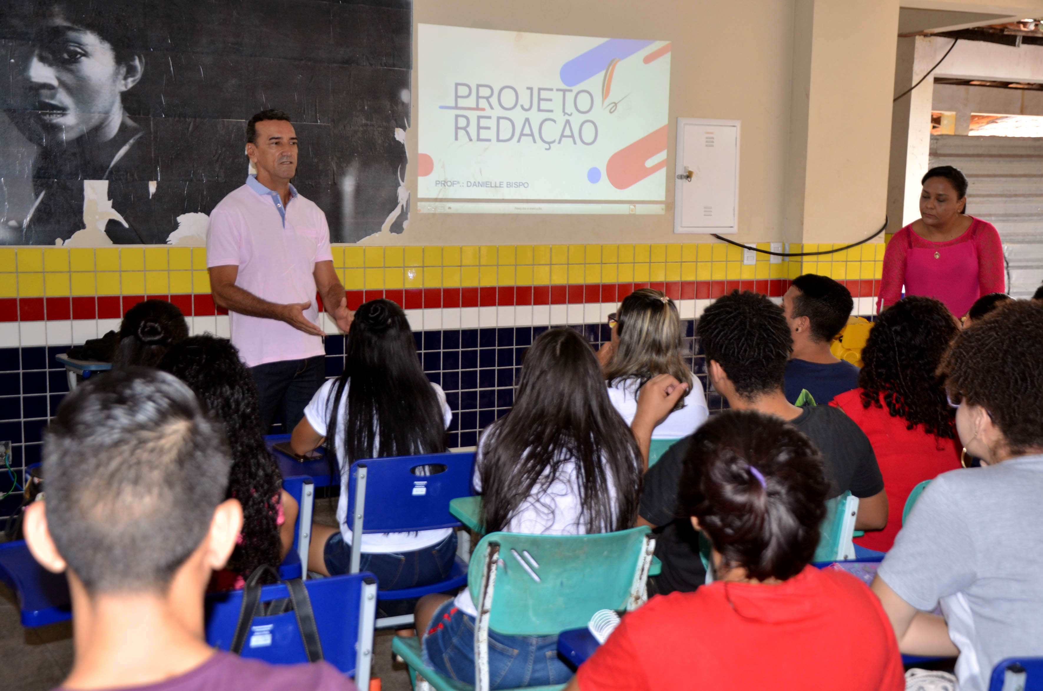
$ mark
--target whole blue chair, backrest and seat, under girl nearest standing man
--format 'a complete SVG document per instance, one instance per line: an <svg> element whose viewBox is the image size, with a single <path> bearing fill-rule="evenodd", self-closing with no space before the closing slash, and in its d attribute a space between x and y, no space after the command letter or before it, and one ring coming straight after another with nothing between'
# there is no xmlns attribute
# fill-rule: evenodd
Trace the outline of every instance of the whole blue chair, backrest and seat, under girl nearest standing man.
<svg viewBox="0 0 1043 691"><path fill-rule="evenodd" d="M416 475L421 466L444 471ZM413 532L461 526L450 514L450 501L471 496L475 452L432 453L357 460L348 476L347 515L351 517L350 573L359 571L362 535L366 532ZM467 563L459 556L448 578L430 586L382 590L380 600L404 600L458 590L467 582ZM378 627L413 623L413 615L384 617Z"/></svg>

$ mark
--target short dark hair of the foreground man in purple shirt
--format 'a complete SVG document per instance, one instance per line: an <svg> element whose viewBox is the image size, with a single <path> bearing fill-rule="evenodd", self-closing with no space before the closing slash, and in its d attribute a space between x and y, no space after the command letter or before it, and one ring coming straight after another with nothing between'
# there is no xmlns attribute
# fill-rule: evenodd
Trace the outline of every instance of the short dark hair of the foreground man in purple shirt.
<svg viewBox="0 0 1043 691"><path fill-rule="evenodd" d="M44 434L54 544L91 593L162 592L205 537L231 464L221 426L176 377L93 378Z"/></svg>

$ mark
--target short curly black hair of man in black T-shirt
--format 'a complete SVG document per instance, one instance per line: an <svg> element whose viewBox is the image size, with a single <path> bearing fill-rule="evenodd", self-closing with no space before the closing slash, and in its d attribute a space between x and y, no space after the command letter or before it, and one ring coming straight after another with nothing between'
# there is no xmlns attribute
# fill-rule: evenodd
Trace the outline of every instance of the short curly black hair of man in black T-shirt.
<svg viewBox="0 0 1043 691"><path fill-rule="evenodd" d="M793 338L782 308L766 296L733 290L706 308L696 326L706 354L745 398L780 389Z"/></svg>

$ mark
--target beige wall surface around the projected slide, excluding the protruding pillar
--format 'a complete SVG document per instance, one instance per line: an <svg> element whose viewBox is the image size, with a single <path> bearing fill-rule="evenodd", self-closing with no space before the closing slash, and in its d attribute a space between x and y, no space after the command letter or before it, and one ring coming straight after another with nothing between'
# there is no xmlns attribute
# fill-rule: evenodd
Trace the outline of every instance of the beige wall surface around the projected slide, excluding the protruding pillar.
<svg viewBox="0 0 1043 691"><path fill-rule="evenodd" d="M415 0L414 22L672 41L666 213L657 216L421 214L416 211L416 104L407 133L414 190L402 235L366 244L705 242L674 234L675 128L681 117L743 121L737 239L781 237L789 137L793 3L780 0ZM414 25L414 37L416 35ZM414 38L415 55L415 38ZM416 93L416 71L413 72Z"/></svg>

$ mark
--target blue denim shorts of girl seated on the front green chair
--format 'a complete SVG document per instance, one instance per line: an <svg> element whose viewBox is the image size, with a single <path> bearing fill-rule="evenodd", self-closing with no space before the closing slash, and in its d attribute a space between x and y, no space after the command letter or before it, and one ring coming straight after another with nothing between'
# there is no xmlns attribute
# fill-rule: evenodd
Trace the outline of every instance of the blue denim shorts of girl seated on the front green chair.
<svg viewBox="0 0 1043 691"><path fill-rule="evenodd" d="M475 618L453 600L435 611L421 641L423 664L448 678L475 683ZM564 684L573 671L558 658L558 637L504 636L489 629L489 688Z"/></svg>

